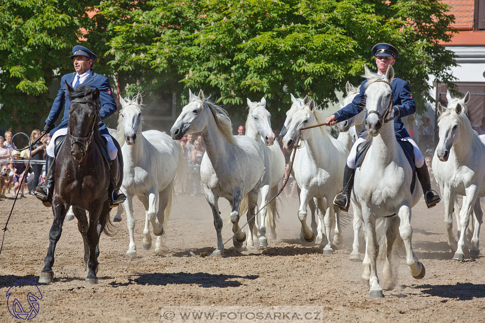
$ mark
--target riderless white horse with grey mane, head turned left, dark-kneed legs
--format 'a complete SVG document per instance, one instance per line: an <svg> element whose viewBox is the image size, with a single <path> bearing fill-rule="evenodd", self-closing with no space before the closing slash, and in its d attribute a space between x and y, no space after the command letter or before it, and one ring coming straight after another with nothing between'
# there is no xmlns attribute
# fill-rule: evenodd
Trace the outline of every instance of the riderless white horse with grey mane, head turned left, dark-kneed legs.
<svg viewBox="0 0 485 323"><path fill-rule="evenodd" d="M230 219L234 247L240 248L248 237L246 247L254 248L254 212L258 204L258 193L264 171L264 152L261 145L248 136L233 136L227 112L205 98L201 90L193 95L189 90L189 102L182 109L172 129L172 138L180 139L191 132L201 132L206 152L201 162L201 178L207 202L212 208L214 228L217 234L217 249L213 256L222 256L222 219L218 200L223 197L232 206ZM249 230L246 235L239 230L239 210L243 197L247 195Z"/></svg>

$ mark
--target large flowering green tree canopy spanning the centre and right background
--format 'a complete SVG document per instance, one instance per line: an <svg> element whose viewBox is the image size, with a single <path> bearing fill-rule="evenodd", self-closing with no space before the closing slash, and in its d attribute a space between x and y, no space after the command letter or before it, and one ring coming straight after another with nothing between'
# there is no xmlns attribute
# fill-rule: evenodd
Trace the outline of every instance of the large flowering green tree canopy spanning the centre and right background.
<svg viewBox="0 0 485 323"><path fill-rule="evenodd" d="M143 71L129 93L180 83L185 98L188 88L203 88L240 109L246 97L264 95L280 115L290 92L321 102L334 100L347 80L359 84L364 64L375 69L377 42L400 49L396 73L422 109L428 75L453 79L452 52L439 45L452 36L448 8L435 0L107 0L99 7L110 21L109 64Z"/></svg>

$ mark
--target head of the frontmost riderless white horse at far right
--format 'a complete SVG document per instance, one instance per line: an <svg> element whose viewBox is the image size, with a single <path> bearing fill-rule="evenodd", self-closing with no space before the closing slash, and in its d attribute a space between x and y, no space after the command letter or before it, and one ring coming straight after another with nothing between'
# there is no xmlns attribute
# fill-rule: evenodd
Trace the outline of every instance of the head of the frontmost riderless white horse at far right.
<svg viewBox="0 0 485 323"><path fill-rule="evenodd" d="M438 118L440 142L436 148L436 154L441 161L447 161L450 156L450 150L454 144L460 140L460 131L464 131L464 127L471 128L471 124L466 117L467 106L470 100L470 92L466 92L463 98L452 98L450 92L447 94L448 106L444 107L438 103ZM465 119L468 121L466 123Z"/></svg>

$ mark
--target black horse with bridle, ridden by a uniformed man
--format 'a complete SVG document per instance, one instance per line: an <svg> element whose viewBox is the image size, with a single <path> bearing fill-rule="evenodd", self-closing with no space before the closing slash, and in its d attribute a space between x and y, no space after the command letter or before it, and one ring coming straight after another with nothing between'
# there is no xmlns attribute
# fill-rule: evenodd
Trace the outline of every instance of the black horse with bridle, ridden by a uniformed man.
<svg viewBox="0 0 485 323"><path fill-rule="evenodd" d="M69 125L66 140L57 153L55 168L55 193L52 202L54 222L49 234L50 244L40 273L39 283L52 283L54 251L61 238L62 224L69 205L73 206L78 220L78 229L84 243L84 262L88 273L86 284L98 282L98 243L102 231L110 234L110 205L108 187L112 177L106 158L101 151L105 146L98 130L100 120L100 90L90 86L73 89L66 83L67 93L72 99L69 107ZM123 181L123 158L118 148L118 186ZM89 222L86 217L89 212Z"/></svg>

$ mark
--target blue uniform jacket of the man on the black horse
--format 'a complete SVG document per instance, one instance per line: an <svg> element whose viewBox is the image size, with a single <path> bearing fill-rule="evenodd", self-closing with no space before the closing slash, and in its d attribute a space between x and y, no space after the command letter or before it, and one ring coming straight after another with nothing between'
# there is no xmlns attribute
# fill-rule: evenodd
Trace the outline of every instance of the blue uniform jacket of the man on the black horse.
<svg viewBox="0 0 485 323"><path fill-rule="evenodd" d="M67 96L67 89L64 81L67 81L67 84L71 85L72 81L74 81L75 75L76 75L76 72L69 73L69 74L63 75L61 78L61 89L59 90L59 93L57 93L56 99L52 104L51 112L49 113L49 117L47 117L47 119L45 120L45 123L51 126L54 125L56 120L61 115L62 109L64 109L64 116L62 117L61 124L50 132L51 136L53 136L54 132L56 132L57 130L61 128L66 128L68 125L69 106L71 105L71 100ZM80 85L89 85L89 86L98 88L100 90L101 120L108 118L109 116L111 116L116 112L116 109L117 109L116 101L115 101L115 98L113 97L113 94L111 94L111 84L110 84L110 80L107 77L96 74L92 70L90 70L89 76ZM98 123L98 126L102 134L109 134L108 127L105 125L104 122L100 121Z"/></svg>

